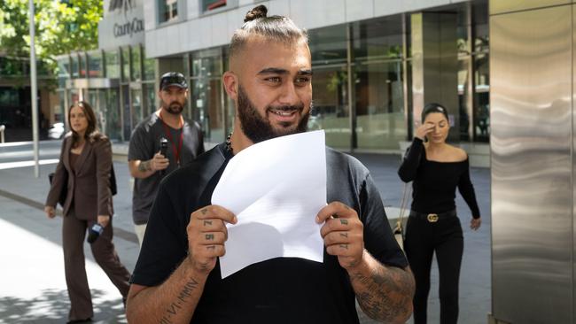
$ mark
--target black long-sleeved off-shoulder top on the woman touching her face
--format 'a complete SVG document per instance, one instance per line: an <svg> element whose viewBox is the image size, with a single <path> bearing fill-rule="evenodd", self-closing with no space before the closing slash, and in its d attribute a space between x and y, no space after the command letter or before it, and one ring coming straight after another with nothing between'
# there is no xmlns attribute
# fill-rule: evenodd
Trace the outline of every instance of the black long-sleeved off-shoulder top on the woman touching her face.
<svg viewBox="0 0 576 324"><path fill-rule="evenodd" d="M460 162L437 162L426 158L421 139L415 137L402 161L398 174L412 183L412 210L415 212L449 212L455 210L456 187L471 209L480 217L474 186L470 180L468 158Z"/></svg>

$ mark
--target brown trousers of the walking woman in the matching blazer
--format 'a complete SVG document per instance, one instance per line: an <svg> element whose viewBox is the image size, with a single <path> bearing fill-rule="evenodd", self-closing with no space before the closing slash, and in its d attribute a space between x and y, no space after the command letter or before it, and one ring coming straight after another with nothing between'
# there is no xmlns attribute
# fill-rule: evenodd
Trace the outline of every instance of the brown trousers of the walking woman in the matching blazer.
<svg viewBox="0 0 576 324"><path fill-rule="evenodd" d="M95 220L78 220L74 217L74 212L69 212L64 217L62 246L64 248L66 286L70 297L68 320L84 320L94 316L84 263L84 239L86 229L91 228L95 222ZM114 286L120 290L122 297L127 297L130 274L118 258L112 237L112 218L110 218L110 223L96 242L90 244L90 248L98 266L104 270Z"/></svg>

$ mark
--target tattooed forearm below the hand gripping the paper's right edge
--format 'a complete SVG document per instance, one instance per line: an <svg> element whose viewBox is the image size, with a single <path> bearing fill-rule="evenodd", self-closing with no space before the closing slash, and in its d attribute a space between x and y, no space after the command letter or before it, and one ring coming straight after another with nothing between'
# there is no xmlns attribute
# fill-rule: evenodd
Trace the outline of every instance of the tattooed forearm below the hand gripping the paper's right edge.
<svg viewBox="0 0 576 324"><path fill-rule="evenodd" d="M385 322L407 319L412 312L414 280L408 270L378 266L370 274L350 275L358 304L368 316Z"/></svg>

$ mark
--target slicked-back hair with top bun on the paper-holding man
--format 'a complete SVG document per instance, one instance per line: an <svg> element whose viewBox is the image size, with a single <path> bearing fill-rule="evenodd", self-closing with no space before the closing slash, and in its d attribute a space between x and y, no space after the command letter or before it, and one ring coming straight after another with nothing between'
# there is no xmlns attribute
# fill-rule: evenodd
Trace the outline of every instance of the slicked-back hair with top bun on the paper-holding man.
<svg viewBox="0 0 576 324"><path fill-rule="evenodd" d="M307 42L306 29L297 27L284 16L267 16L268 9L261 4L246 13L244 25L234 32L230 42L230 58L244 47L250 35L262 35L271 41L292 43L300 39Z"/></svg>

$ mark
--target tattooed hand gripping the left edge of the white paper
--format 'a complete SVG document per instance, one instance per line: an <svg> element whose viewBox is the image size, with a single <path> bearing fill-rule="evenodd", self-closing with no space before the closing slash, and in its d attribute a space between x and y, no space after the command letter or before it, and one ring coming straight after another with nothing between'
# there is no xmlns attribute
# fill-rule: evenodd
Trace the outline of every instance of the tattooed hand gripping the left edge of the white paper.
<svg viewBox="0 0 576 324"><path fill-rule="evenodd" d="M226 250L224 242L228 239L226 222L236 224L236 216L218 205L209 205L191 213L186 228L188 233L188 258L201 273L209 273L216 266L216 258L222 257Z"/></svg>

